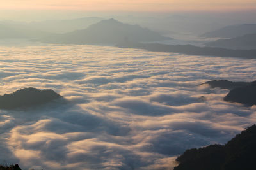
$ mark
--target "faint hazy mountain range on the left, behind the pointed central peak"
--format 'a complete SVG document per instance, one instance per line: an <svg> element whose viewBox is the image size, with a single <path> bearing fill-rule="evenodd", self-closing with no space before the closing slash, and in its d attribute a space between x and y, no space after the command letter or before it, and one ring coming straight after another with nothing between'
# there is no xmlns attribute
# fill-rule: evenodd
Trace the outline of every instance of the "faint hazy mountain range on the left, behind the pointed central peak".
<svg viewBox="0 0 256 170"><path fill-rule="evenodd" d="M56 33L85 29L104 18L85 17L75 20L49 20L42 22L0 21L0 39L41 39Z"/></svg>

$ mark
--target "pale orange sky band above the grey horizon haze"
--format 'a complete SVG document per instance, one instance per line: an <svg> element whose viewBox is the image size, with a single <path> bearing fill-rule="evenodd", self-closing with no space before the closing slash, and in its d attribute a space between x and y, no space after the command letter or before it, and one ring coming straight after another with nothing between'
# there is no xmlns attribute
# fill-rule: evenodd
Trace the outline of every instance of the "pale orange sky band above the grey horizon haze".
<svg viewBox="0 0 256 170"><path fill-rule="evenodd" d="M1 10L197 11L256 8L255 0L2 0Z"/></svg>

